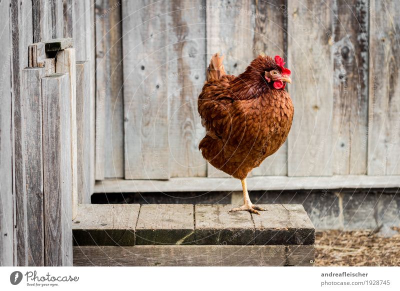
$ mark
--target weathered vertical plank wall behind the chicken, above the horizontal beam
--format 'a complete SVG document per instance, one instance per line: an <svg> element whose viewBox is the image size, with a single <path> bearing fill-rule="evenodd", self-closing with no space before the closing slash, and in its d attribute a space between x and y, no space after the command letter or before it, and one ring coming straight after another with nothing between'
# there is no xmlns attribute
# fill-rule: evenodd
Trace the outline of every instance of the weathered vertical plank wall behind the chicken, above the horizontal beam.
<svg viewBox="0 0 400 291"><path fill-rule="evenodd" d="M396 19L397 4L387 9L379 0L321 5L306 0L196 0L157 2L155 7L144 0L123 3L119 18L113 3L96 1L97 17L116 15L100 17L96 27L96 179L227 176L206 165L196 146L203 129L195 100L204 68L217 51L225 54L225 69L233 74L259 53L279 54L292 69L292 130L253 176L399 173L397 159L390 158L400 143L395 133L400 131L400 109L392 102L399 81L396 62L389 61L396 55L396 22L384 22ZM119 61L112 55L120 45L114 36L120 35L120 19L123 97L111 89L114 83L120 88L113 76L120 76L121 67L110 59ZM369 58L372 50L379 53ZM389 72L386 83L376 77ZM382 94L385 99L376 97ZM123 132L118 120L124 120ZM108 149L106 142L112 143Z"/></svg>

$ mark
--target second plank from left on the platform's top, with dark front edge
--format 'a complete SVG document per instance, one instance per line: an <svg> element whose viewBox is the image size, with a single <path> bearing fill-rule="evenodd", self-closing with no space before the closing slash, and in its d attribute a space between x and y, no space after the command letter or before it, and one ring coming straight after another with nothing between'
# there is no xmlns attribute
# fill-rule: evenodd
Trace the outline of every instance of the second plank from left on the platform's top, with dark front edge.
<svg viewBox="0 0 400 291"><path fill-rule="evenodd" d="M192 204L145 204L140 207L136 244L193 244Z"/></svg>

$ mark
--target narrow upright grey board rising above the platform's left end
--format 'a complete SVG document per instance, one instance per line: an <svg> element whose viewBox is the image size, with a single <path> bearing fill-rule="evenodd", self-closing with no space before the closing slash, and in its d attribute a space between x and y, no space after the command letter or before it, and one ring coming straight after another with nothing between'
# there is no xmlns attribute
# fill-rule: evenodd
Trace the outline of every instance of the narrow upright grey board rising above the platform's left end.
<svg viewBox="0 0 400 291"><path fill-rule="evenodd" d="M77 202L90 203L92 193L91 152L94 144L90 138L90 63L76 62L76 137L77 137Z"/></svg>

